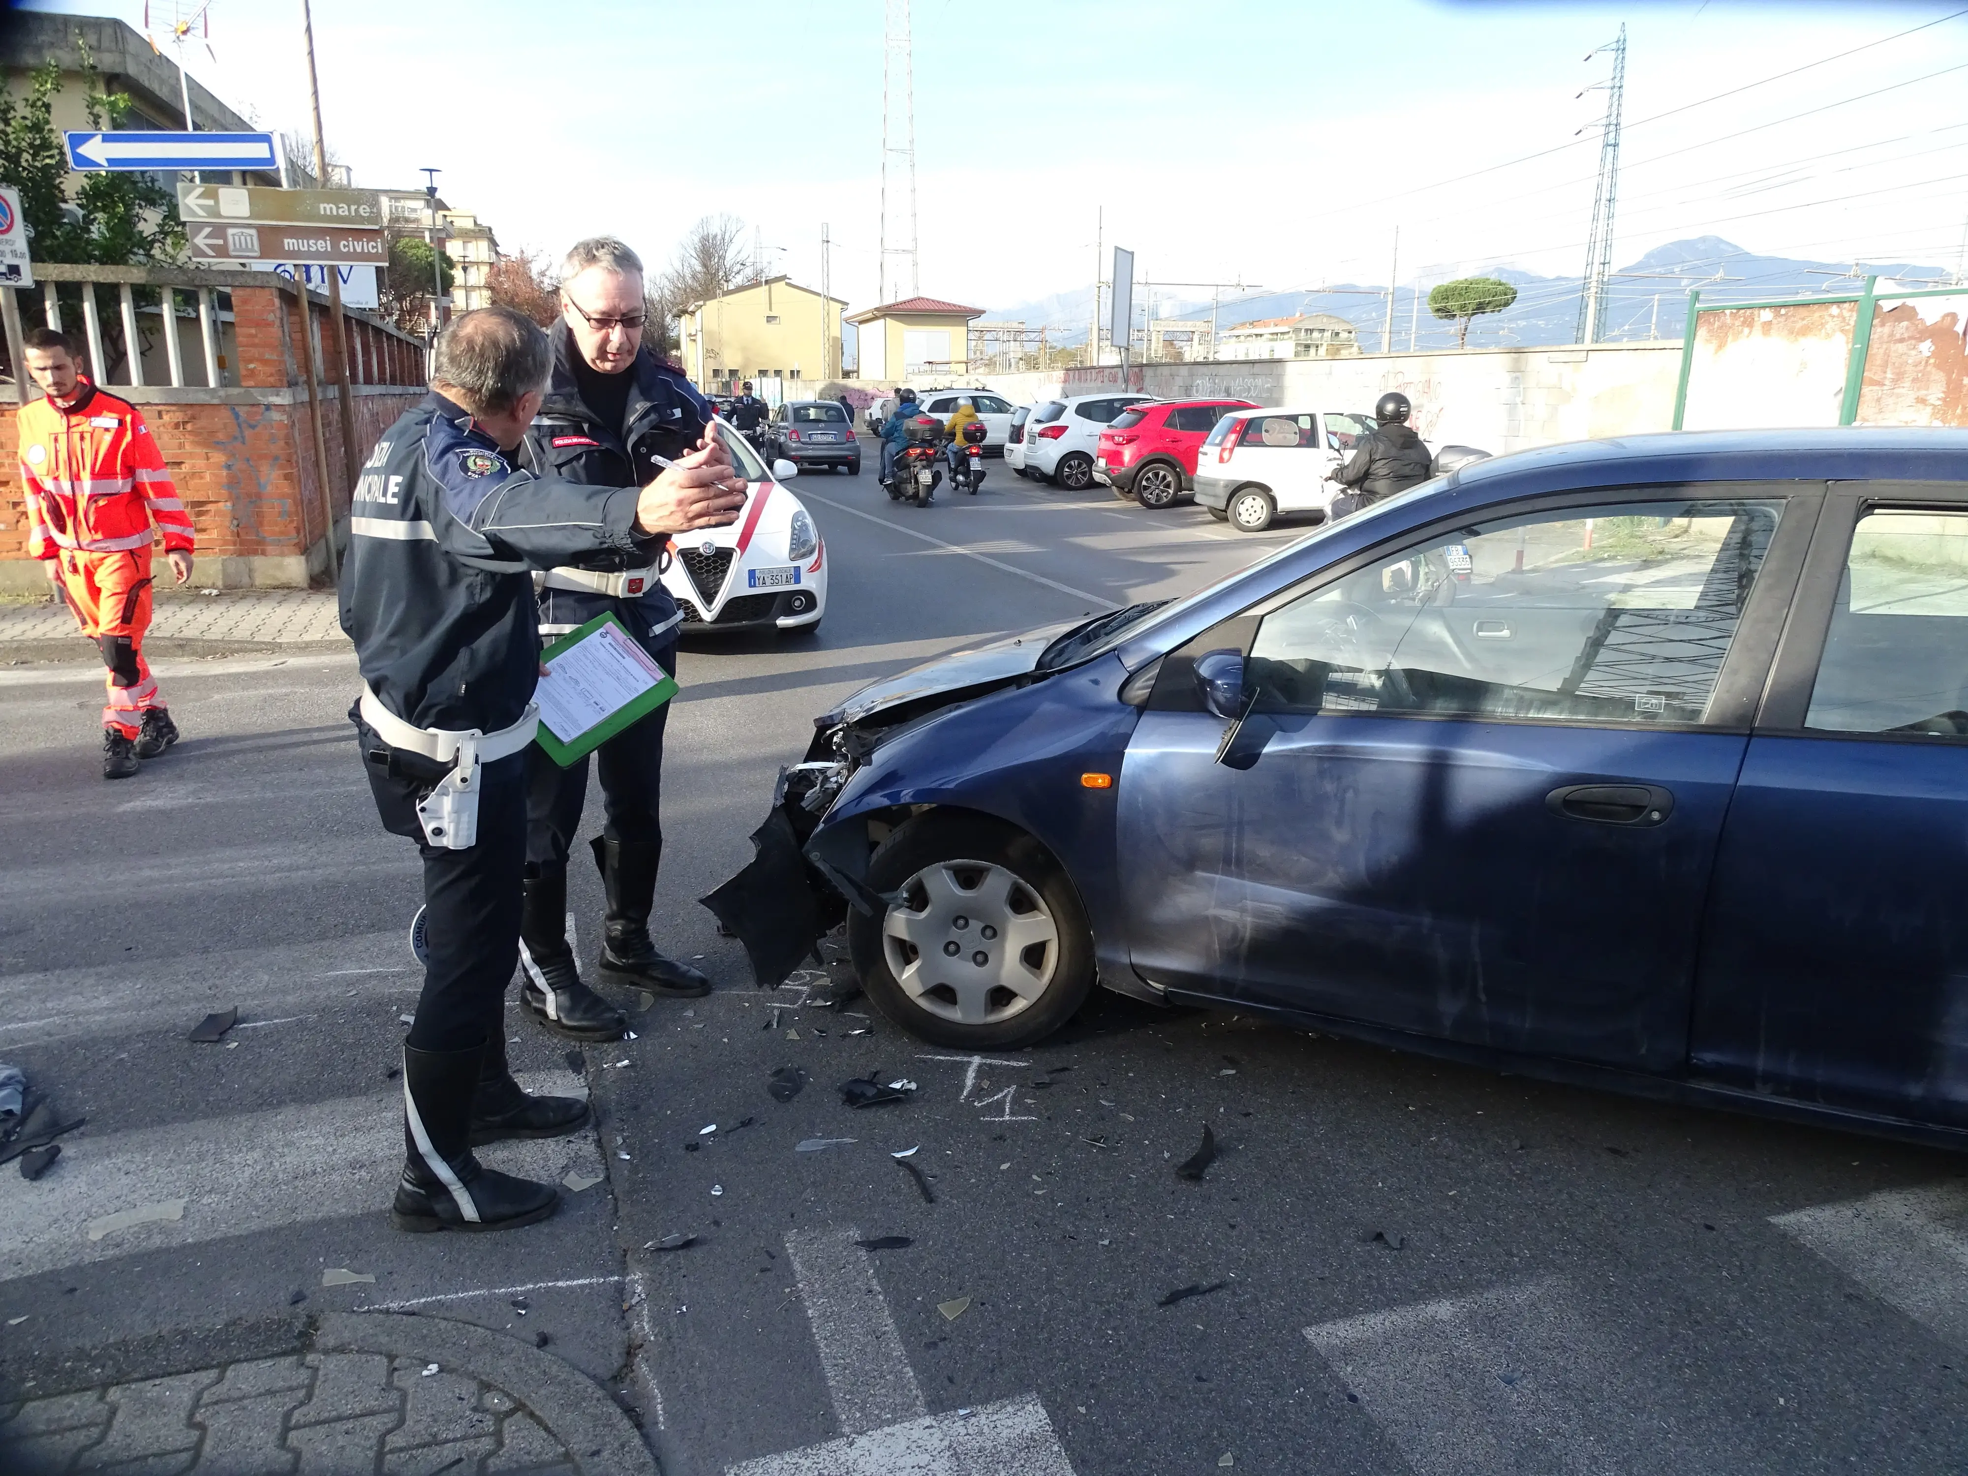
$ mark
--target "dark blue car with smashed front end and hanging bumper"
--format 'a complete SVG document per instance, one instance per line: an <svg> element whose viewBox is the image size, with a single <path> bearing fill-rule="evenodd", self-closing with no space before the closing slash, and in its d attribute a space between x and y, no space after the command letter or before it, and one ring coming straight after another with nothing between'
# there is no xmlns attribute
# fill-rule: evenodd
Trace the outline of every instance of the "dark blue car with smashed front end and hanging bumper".
<svg viewBox="0 0 1968 1476"><path fill-rule="evenodd" d="M844 913L939 1045L1098 982L1968 1145L1968 431L1472 462L864 689L758 838L760 972Z"/></svg>

